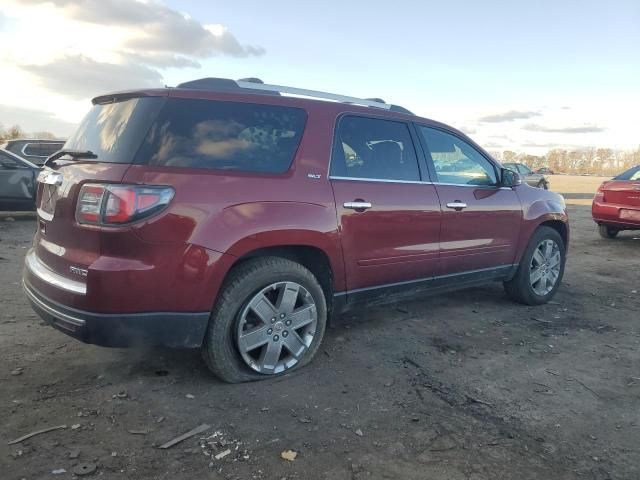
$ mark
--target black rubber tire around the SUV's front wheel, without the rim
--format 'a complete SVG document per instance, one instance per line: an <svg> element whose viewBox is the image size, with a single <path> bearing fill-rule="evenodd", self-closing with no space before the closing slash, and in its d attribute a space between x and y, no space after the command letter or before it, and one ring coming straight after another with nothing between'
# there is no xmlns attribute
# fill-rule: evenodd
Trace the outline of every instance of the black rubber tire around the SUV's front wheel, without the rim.
<svg viewBox="0 0 640 480"><path fill-rule="evenodd" d="M558 245L560 252L560 272L551 291L546 295L539 295L534 291L533 286L531 285L529 268L536 248L544 240L553 240ZM509 297L516 302L523 303L525 305L542 305L551 300L562 283L566 251L567 249L565 247L564 240L556 230L546 226L539 227L529 240L529 244L520 259L520 265L518 266L516 274L511 280L504 282L504 289Z"/></svg>

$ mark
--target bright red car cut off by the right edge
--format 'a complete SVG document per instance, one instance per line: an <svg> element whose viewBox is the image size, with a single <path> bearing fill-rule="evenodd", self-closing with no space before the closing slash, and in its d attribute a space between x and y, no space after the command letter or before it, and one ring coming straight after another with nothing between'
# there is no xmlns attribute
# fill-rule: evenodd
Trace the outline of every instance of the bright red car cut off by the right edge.
<svg viewBox="0 0 640 480"><path fill-rule="evenodd" d="M640 230L640 165L602 182L591 214L604 238L615 238L622 230Z"/></svg>

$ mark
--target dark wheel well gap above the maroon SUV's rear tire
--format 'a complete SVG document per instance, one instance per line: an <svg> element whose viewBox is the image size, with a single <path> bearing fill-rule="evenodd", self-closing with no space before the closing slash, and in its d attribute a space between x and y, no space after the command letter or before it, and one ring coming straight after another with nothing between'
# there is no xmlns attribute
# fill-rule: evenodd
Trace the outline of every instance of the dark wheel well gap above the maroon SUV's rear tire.
<svg viewBox="0 0 640 480"><path fill-rule="evenodd" d="M240 257L233 265L235 268L240 263L256 257L281 257L297 262L309 269L318 279L324 292L328 312L332 311L333 303L333 270L327 254L316 247L308 245L284 245L278 247L260 248Z"/></svg>

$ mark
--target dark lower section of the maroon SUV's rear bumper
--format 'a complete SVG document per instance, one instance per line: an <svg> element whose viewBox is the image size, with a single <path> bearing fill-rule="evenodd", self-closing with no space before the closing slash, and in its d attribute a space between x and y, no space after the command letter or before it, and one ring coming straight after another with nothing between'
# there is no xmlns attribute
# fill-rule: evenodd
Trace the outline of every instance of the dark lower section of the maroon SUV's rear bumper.
<svg viewBox="0 0 640 480"><path fill-rule="evenodd" d="M209 312L91 313L54 302L27 280L23 287L35 312L49 325L82 342L104 347L197 348L209 321Z"/></svg>

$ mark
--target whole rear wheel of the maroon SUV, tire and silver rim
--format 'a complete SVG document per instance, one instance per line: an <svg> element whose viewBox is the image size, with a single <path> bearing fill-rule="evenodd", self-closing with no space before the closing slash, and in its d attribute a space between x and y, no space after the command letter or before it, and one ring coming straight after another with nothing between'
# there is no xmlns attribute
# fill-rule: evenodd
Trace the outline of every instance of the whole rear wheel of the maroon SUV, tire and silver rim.
<svg viewBox="0 0 640 480"><path fill-rule="evenodd" d="M324 292L309 270L279 257L248 260L225 281L202 354L226 382L282 375L311 361L326 320Z"/></svg>

